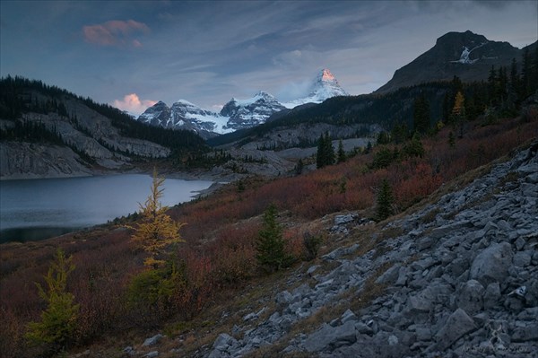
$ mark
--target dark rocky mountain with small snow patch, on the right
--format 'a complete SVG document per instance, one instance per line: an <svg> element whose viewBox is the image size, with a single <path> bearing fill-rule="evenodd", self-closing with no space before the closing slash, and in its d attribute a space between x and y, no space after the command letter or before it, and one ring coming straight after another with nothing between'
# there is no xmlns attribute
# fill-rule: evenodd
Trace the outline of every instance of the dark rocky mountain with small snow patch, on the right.
<svg viewBox="0 0 538 358"><path fill-rule="evenodd" d="M491 66L507 66L519 60L522 50L508 42L491 41L471 31L448 32L433 48L395 71L393 78L376 92L432 81L450 81L455 75L464 82L486 80Z"/></svg>

